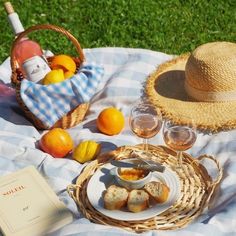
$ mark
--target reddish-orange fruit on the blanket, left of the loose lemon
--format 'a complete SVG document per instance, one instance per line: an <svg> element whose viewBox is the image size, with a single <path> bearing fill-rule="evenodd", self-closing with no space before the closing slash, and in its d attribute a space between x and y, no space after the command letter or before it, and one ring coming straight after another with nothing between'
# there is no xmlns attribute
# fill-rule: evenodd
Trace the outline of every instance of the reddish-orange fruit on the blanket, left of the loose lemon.
<svg viewBox="0 0 236 236"><path fill-rule="evenodd" d="M39 140L39 146L48 154L56 158L68 155L74 146L70 134L62 128L52 128Z"/></svg>

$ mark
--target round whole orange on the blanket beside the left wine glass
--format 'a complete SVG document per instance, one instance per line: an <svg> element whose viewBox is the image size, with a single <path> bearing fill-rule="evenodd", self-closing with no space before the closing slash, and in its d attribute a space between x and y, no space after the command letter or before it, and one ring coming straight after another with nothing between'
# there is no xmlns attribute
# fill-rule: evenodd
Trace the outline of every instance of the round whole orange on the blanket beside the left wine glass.
<svg viewBox="0 0 236 236"><path fill-rule="evenodd" d="M119 134L125 126L125 118L121 111L114 107L105 108L97 118L97 128L107 135Z"/></svg>

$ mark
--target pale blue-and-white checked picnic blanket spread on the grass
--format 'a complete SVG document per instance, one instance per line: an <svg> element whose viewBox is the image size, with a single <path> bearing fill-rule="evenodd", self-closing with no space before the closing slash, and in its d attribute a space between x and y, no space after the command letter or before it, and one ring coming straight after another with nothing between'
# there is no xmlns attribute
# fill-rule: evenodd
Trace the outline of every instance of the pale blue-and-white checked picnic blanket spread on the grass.
<svg viewBox="0 0 236 236"><path fill-rule="evenodd" d="M141 139L130 131L128 122L119 135L99 133L96 129L96 117L103 108L114 106L127 119L132 103L143 93L147 76L173 56L130 48L84 49L84 53L87 62L93 61L104 67L104 75L90 99L91 106L84 121L68 129L75 144L92 139L100 142L102 152L106 152L119 146L141 143ZM120 228L91 223L81 214L66 187L76 180L86 164L79 164L70 158L56 159L37 149L36 143L46 131L39 132L24 117L16 102L15 91L10 87L10 75L10 62L7 58L0 66L0 175L34 165L47 178L52 189L74 216L72 223L50 235L136 235ZM150 143L164 144L161 132L150 139ZM216 200L208 211L186 228L148 231L139 235L236 235L236 131L212 135L199 133L195 145L187 152L196 157L201 154L213 155L224 167Z"/></svg>

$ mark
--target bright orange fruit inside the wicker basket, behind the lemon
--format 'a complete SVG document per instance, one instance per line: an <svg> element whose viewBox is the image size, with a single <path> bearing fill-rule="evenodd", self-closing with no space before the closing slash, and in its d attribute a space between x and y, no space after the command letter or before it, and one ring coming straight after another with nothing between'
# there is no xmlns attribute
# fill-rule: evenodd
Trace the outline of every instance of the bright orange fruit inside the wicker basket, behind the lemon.
<svg viewBox="0 0 236 236"><path fill-rule="evenodd" d="M76 70L76 64L72 57L68 55L56 55L52 58L51 69L63 69L64 72L71 71L72 73L75 73Z"/></svg>

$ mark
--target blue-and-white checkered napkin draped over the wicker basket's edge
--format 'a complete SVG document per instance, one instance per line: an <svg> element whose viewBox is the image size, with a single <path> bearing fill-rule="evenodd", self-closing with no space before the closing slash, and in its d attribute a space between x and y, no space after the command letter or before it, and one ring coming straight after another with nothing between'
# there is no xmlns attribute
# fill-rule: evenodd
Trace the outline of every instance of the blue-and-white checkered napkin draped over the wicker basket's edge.
<svg viewBox="0 0 236 236"><path fill-rule="evenodd" d="M21 82L21 98L28 109L51 127L61 117L95 94L104 69L95 63L83 64L78 73L61 83L41 85Z"/></svg>

